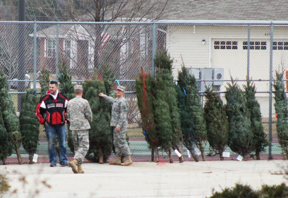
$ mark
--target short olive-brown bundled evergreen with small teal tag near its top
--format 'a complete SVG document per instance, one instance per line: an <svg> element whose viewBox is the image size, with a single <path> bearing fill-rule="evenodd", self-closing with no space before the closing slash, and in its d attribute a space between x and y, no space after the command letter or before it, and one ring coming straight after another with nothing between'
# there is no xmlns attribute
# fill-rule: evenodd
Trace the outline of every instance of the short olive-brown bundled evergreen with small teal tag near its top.
<svg viewBox="0 0 288 198"><path fill-rule="evenodd" d="M206 119L207 138L210 148L219 154L223 160L222 153L228 144L229 123L225 106L218 93L209 87L205 90L206 102L204 105L204 117Z"/></svg>

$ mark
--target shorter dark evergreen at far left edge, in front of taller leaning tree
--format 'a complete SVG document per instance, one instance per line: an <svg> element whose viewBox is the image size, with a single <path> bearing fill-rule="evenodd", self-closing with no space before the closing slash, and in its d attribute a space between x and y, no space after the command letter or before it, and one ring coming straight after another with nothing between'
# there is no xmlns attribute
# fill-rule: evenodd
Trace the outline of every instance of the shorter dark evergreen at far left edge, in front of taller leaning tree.
<svg viewBox="0 0 288 198"><path fill-rule="evenodd" d="M0 107L1 107L1 101L0 101ZM11 144L11 142L9 141L9 135L4 126L2 110L0 108L0 161L2 161L3 165L6 164L6 159L12 154L12 152L13 152L13 144Z"/></svg>

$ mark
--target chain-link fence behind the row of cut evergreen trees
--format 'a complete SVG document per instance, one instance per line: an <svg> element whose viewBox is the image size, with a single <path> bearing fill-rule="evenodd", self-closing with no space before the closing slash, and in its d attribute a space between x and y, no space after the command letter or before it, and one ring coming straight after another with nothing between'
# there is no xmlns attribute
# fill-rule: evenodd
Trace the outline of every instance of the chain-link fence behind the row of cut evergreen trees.
<svg viewBox="0 0 288 198"><path fill-rule="evenodd" d="M174 59L175 80L181 66L189 68L189 73L200 82L201 95L204 86L210 85L226 103L223 94L231 78L241 87L247 84L247 79L253 81L262 125L267 139L272 140L271 146L262 152L262 159L282 159L272 108L272 78L275 70L287 70L287 25L288 22L259 21L0 22L0 66L7 75L17 112L20 111L19 95L25 93L25 88L31 87L39 93L38 77L43 68L50 71L50 80L57 80L58 65L65 63L72 83L81 84L99 75L94 73L94 68L101 73L108 67L116 79L115 85L118 82L126 87L127 135L132 158L150 161L151 150L141 128L134 84L141 68L154 76L156 51L167 49ZM202 100L204 103L203 97ZM23 148L21 153L24 158L27 156ZM40 126L36 153L44 156L40 162L48 162L43 126ZM208 144L205 153L208 160L219 159L211 154ZM192 160L188 152L183 154L185 160ZM69 149L68 155L72 155ZM166 158L167 155L160 153L160 156ZM177 158L176 153L173 156ZM233 153L231 156L236 158ZM8 159L13 163L17 161L14 156Z"/></svg>

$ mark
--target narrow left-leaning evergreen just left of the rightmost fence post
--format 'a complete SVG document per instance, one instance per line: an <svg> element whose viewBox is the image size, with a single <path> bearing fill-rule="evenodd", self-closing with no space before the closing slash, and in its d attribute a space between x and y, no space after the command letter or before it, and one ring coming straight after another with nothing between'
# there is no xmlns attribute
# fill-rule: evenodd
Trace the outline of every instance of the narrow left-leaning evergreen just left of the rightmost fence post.
<svg viewBox="0 0 288 198"><path fill-rule="evenodd" d="M251 130L254 134L255 154L256 159L260 160L260 152L268 146L268 141L265 139L265 133L262 126L262 116L260 105L256 100L256 88L253 82L247 81L247 86L244 86L247 99L247 108L250 112Z"/></svg>

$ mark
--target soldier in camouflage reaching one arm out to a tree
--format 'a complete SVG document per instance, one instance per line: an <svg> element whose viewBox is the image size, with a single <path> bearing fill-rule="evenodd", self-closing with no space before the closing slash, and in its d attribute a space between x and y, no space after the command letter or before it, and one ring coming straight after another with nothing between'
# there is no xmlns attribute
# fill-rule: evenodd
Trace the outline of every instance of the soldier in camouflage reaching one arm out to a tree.
<svg viewBox="0 0 288 198"><path fill-rule="evenodd" d="M113 138L116 152L116 158L110 162L110 165L128 166L132 164L130 157L130 149L125 139L127 130L127 108L128 104L124 98L124 86L118 86L116 89L117 98L109 97L103 93L99 93L100 97L104 97L108 102L113 103L112 115L110 126L113 127ZM121 163L121 156L125 156L126 159Z"/></svg>

